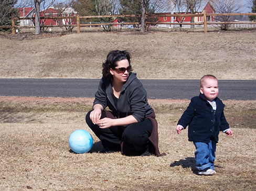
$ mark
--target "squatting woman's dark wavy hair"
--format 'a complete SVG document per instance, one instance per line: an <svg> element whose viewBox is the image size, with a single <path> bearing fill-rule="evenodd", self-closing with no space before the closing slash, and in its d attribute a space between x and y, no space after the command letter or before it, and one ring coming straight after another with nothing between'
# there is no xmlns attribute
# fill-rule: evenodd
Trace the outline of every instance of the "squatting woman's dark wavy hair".
<svg viewBox="0 0 256 191"><path fill-rule="evenodd" d="M116 62L121 60L128 60L129 65L131 65L131 54L126 50L112 50L106 56L105 62L102 63L102 74L105 78L112 78L113 76L110 74L109 70L114 69L118 64Z"/></svg>

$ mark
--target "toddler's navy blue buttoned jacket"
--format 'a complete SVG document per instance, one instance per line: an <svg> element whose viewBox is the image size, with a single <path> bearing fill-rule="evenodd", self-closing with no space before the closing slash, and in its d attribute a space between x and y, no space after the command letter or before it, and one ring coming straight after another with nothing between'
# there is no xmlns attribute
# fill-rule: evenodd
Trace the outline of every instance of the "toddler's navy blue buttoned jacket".
<svg viewBox="0 0 256 191"><path fill-rule="evenodd" d="M189 106L178 121L184 129L188 126L188 140L208 143L210 140L218 142L220 131L229 129L229 124L223 113L225 105L217 97L216 111L203 94L193 97Z"/></svg>

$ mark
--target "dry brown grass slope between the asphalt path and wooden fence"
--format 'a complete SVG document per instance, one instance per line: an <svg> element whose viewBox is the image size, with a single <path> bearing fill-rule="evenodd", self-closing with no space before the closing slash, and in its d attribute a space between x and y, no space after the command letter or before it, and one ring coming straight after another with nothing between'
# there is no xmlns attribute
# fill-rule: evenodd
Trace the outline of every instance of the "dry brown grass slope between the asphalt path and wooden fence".
<svg viewBox="0 0 256 191"><path fill-rule="evenodd" d="M199 79L213 74L219 79L256 80L255 34L256 30L115 31L31 40L2 37L0 77L100 78L108 52L126 49L139 78Z"/></svg>

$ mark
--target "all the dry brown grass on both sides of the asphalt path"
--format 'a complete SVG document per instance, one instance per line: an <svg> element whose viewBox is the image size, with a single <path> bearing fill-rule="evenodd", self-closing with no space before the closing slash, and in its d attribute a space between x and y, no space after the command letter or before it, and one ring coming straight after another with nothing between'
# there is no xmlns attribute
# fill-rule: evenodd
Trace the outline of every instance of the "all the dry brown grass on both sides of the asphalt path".
<svg viewBox="0 0 256 191"><path fill-rule="evenodd" d="M0 38L1 78L99 78L110 50L127 49L140 78L256 80L255 31L80 33ZM14 51L14 47L19 47ZM22 47L22 48L20 48ZM189 100L148 100L166 156L100 154L84 120L93 98L0 97L0 190L256 190L256 101L225 100L234 132L220 133L216 171L198 176L193 143L176 123ZM92 134L90 153L74 154L72 131Z"/></svg>

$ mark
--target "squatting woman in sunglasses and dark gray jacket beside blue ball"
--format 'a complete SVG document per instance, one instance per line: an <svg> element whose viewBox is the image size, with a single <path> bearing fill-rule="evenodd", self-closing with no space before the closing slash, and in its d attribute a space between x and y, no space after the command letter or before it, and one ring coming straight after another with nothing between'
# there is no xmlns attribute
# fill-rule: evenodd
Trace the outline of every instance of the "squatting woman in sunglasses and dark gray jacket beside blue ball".
<svg viewBox="0 0 256 191"><path fill-rule="evenodd" d="M154 110L136 73L131 72L131 54L113 50L102 66L93 110L86 116L88 126L104 147L100 152L160 156Z"/></svg>

